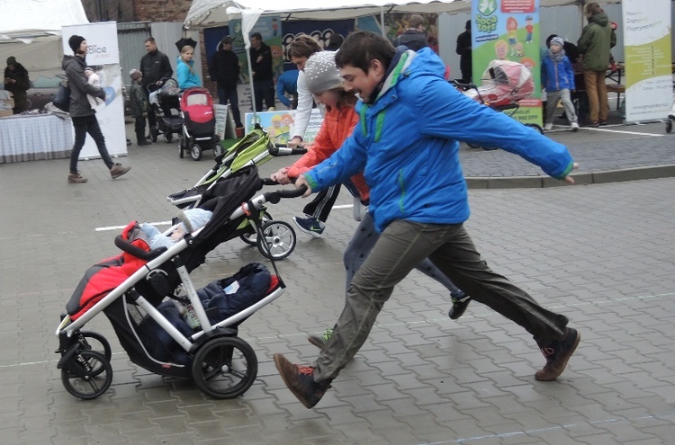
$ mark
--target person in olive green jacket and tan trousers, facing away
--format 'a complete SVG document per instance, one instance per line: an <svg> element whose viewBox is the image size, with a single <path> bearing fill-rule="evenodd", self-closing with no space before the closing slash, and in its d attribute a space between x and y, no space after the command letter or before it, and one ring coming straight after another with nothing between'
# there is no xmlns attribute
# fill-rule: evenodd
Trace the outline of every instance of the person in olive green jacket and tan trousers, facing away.
<svg viewBox="0 0 675 445"><path fill-rule="evenodd" d="M605 124L608 118L609 104L605 72L611 56L609 49L617 44L617 35L609 24L607 14L599 4L587 4L585 13L589 24L581 31L577 47L583 55L581 65L586 94L589 96L590 127L598 127Z"/></svg>

